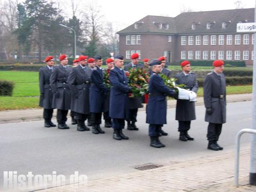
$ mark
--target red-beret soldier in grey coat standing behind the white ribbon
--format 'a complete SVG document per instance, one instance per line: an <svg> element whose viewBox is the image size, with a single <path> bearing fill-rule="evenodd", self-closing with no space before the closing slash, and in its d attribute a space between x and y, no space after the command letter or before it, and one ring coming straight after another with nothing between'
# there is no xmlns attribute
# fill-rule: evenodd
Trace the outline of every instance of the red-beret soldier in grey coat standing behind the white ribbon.
<svg viewBox="0 0 256 192"><path fill-rule="evenodd" d="M177 84L184 84L185 89L197 93L198 83L197 75L190 72L190 62L185 60L180 63L182 72L175 75ZM178 131L180 132L179 139L181 141L193 141L194 138L188 135L191 120L196 119L195 101L178 99L176 104L176 120L179 121Z"/></svg>

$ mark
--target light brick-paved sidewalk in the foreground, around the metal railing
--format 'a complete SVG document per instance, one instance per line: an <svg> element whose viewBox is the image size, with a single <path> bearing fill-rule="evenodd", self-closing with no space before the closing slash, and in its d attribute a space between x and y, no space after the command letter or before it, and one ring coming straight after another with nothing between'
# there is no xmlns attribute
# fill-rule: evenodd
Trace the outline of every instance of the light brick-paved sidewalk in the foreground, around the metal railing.
<svg viewBox="0 0 256 192"><path fill-rule="evenodd" d="M40 191L256 191L248 185L249 146L240 154L239 187L233 186L234 153L212 153L217 156Z"/></svg>

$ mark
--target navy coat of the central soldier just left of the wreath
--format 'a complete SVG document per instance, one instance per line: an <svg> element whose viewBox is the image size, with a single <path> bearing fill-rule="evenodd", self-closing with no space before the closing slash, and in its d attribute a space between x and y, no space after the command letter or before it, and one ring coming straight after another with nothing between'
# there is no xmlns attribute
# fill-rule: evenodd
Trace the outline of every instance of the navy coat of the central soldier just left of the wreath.
<svg viewBox="0 0 256 192"><path fill-rule="evenodd" d="M129 116L129 96L131 88L127 86L124 71L115 67L110 71L110 117L127 119Z"/></svg>

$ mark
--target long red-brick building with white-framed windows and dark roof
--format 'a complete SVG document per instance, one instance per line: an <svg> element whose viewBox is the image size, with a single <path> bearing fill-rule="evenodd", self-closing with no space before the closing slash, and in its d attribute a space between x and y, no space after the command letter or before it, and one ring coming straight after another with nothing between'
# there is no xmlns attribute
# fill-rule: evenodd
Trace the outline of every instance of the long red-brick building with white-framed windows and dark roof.
<svg viewBox="0 0 256 192"><path fill-rule="evenodd" d="M237 33L237 23L253 23L254 8L185 12L176 17L148 15L117 32L125 60L166 56L168 62L243 60L253 64L254 34Z"/></svg>

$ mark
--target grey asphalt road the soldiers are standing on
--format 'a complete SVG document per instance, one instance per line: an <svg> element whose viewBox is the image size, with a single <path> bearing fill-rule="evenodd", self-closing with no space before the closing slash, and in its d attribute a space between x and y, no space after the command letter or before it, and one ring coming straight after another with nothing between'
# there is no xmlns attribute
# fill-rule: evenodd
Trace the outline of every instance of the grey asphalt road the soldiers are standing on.
<svg viewBox="0 0 256 192"><path fill-rule="evenodd" d="M56 171L68 177L78 171L93 180L136 172L134 166L144 163L170 165L220 155L234 150L234 138L239 130L251 128L251 101L228 103L227 123L223 125L219 141L224 151L209 151L204 113L204 106L196 106L197 120L191 123L189 131L195 141L182 142L178 140L175 109L168 109L168 124L163 130L169 135L160 137L166 145L164 148L150 147L144 111L138 113L140 130L124 130L130 140L122 141L112 139L110 128L103 129L106 134L94 135L91 131L77 132L75 125L71 125L70 130L45 128L43 121L0 124L0 189L4 171L35 175ZM248 135L242 137L242 146L250 143L249 138Z"/></svg>

